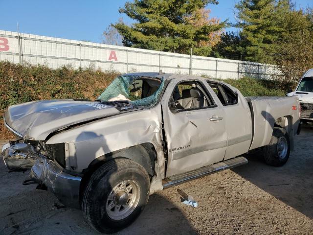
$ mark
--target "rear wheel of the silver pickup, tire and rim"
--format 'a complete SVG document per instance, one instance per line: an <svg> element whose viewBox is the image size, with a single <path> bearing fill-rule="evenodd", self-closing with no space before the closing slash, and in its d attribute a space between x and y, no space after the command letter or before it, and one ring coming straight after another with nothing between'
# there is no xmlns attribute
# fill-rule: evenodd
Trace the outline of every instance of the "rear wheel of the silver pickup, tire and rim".
<svg viewBox="0 0 313 235"><path fill-rule="evenodd" d="M282 166L287 163L289 154L290 139L286 130L275 127L269 144L263 147L263 158L265 162L273 166Z"/></svg>

